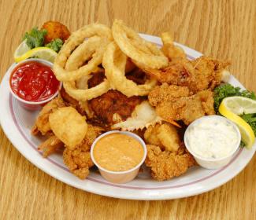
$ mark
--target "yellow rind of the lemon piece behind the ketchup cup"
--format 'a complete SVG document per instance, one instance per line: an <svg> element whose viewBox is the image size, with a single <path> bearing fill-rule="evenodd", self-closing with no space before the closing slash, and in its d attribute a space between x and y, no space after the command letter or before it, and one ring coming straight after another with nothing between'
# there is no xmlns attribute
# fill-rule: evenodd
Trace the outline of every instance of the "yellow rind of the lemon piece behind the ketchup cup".
<svg viewBox="0 0 256 220"><path fill-rule="evenodd" d="M55 57L57 57L57 55L58 53L56 53L53 49L50 49L46 46L41 46L41 47L35 47L34 49L28 50L27 52L22 54L20 57L15 58L15 55L14 55L14 59L16 62L20 62L20 61L24 61L25 59L35 57L35 58L43 59L43 60L54 63Z"/></svg>

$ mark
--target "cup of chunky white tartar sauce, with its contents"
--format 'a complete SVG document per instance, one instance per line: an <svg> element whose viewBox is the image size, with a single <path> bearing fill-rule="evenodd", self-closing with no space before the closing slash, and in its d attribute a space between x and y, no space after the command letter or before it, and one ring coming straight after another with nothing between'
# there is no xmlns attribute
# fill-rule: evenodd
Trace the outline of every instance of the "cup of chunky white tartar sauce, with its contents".
<svg viewBox="0 0 256 220"><path fill-rule="evenodd" d="M227 165L239 148L241 134L235 123L223 116L203 116L191 123L184 134L187 150L206 169Z"/></svg>

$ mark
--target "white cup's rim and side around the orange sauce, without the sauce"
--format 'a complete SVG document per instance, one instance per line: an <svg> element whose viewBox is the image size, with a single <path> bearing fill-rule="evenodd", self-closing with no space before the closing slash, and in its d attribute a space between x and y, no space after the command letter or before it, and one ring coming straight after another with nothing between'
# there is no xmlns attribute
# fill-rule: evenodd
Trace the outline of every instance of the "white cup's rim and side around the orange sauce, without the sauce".
<svg viewBox="0 0 256 220"><path fill-rule="evenodd" d="M105 168L98 165L97 161L95 160L94 154L93 154L95 145L99 139L105 137L106 135L114 134L114 133L126 134L132 138L135 138L143 146L143 150L144 150L143 159L136 167L133 167L132 169L126 170L126 171L116 172L116 171L106 170ZM96 138L95 141L93 142L93 144L91 145L91 159L92 159L93 163L95 163L96 167L98 167L98 170L99 170L100 174L102 175L102 177L105 178L107 181L110 181L113 183L126 183L128 181L132 181L139 173L139 168L144 163L146 156L147 156L147 147L146 147L146 144L143 141L143 139L139 138L138 135L133 134L132 132L128 132L128 131L112 130L112 131L106 132L106 133L98 136L98 138Z"/></svg>

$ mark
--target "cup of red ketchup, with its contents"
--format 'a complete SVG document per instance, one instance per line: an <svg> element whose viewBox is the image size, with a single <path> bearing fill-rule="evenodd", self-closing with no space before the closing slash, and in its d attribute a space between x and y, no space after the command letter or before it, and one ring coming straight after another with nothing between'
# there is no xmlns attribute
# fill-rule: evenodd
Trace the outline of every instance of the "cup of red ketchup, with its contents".
<svg viewBox="0 0 256 220"><path fill-rule="evenodd" d="M58 95L61 82L55 78L52 67L49 61L31 58L9 68L10 92L20 106L31 111L39 110Z"/></svg>

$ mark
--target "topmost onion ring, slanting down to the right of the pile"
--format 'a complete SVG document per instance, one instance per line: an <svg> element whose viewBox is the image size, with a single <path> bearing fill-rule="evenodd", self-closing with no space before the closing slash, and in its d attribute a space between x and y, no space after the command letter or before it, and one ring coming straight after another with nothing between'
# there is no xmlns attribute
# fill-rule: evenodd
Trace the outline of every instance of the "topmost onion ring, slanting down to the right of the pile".
<svg viewBox="0 0 256 220"><path fill-rule="evenodd" d="M122 52L137 63L149 68L164 68L168 65L168 58L157 46L141 38L130 27L125 26L122 20L113 22L112 34Z"/></svg>

